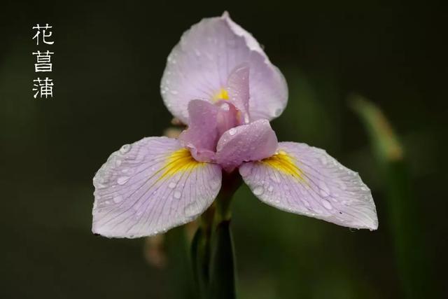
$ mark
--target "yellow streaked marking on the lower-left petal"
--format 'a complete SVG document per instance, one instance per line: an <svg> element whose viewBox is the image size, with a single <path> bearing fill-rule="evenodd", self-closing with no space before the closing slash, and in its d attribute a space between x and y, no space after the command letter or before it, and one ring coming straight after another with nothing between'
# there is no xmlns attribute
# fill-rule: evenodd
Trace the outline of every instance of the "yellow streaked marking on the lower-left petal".
<svg viewBox="0 0 448 299"><path fill-rule="evenodd" d="M165 170L165 172L163 172L157 181L181 172L192 171L196 167L202 167L204 165L205 162L198 162L193 158L190 150L181 148L169 155L167 164L161 169Z"/></svg>

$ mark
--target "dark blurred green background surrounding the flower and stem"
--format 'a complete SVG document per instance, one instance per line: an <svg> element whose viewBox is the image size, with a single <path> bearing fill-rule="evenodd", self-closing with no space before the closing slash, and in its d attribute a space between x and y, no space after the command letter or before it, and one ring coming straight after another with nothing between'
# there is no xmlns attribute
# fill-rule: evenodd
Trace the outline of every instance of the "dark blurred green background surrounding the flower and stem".
<svg viewBox="0 0 448 299"><path fill-rule="evenodd" d="M123 144L169 127L159 90L166 57L190 25L225 10L286 76L288 107L272 123L279 140L325 148L360 172L379 216L375 232L349 230L273 209L241 187L232 207L239 298L412 297L403 259L426 268L414 273L428 281L426 298L448 297L442 1L3 1L1 298L193 298L183 228L155 249L145 239L95 237L92 177ZM36 46L31 27L47 22L55 44ZM55 52L52 99L33 98L36 50ZM404 147L412 197L400 207L416 213L402 230L384 169L349 108L352 92L384 111ZM426 247L406 243L418 262L400 262L396 249L409 232ZM166 263L148 263L154 254Z"/></svg>

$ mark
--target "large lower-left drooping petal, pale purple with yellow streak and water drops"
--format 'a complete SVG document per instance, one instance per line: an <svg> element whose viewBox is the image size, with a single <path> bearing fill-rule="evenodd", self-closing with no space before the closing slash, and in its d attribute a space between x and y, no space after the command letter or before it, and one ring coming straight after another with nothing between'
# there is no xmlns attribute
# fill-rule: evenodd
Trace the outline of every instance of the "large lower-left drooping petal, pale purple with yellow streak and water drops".
<svg viewBox="0 0 448 299"><path fill-rule="evenodd" d="M221 188L221 167L176 139L149 137L113 153L94 176L92 231L144 237L193 221Z"/></svg>

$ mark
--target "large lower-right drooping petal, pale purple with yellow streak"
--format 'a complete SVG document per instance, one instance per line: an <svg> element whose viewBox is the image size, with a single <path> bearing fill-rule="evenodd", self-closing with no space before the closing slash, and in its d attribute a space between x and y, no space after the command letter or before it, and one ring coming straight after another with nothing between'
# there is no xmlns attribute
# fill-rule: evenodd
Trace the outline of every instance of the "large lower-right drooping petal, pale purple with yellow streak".
<svg viewBox="0 0 448 299"><path fill-rule="evenodd" d="M262 202L350 228L378 227L370 189L358 173L320 148L281 142L272 158L239 168Z"/></svg>

